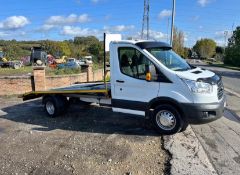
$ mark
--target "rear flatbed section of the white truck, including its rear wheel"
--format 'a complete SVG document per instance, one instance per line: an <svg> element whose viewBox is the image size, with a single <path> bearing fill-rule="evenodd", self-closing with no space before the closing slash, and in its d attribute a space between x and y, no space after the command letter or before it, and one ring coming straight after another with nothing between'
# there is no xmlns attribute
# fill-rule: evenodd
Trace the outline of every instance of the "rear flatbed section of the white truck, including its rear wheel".
<svg viewBox="0 0 240 175"><path fill-rule="evenodd" d="M32 91L19 97L23 101L42 97L47 114L56 117L66 111L71 100L111 105L111 85L103 82L81 83L45 91Z"/></svg>

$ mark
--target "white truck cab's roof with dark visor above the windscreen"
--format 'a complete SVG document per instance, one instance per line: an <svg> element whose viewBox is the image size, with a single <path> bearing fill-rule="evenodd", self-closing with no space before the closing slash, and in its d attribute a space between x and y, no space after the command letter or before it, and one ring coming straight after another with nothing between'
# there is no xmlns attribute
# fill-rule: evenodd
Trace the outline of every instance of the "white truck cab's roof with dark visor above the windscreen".
<svg viewBox="0 0 240 175"><path fill-rule="evenodd" d="M157 48L157 47L164 47L164 48L172 48L168 43L160 42L160 41L151 41L151 40L121 40L121 41L113 41L113 44L133 44L141 49L148 49L148 48Z"/></svg>

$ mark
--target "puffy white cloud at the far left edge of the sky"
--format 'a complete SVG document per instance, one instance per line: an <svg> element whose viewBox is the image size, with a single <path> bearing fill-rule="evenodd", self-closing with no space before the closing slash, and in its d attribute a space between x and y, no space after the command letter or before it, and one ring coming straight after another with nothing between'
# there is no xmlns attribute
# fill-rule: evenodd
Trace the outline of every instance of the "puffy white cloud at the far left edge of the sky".
<svg viewBox="0 0 240 175"><path fill-rule="evenodd" d="M11 16L0 22L0 29L15 30L29 23L30 21L25 16Z"/></svg>

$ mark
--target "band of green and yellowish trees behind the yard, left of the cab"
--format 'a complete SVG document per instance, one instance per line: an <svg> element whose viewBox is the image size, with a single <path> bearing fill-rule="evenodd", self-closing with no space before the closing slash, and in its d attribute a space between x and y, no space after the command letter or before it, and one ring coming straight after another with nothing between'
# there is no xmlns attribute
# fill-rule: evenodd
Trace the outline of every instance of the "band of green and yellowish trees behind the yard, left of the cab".
<svg viewBox="0 0 240 175"><path fill-rule="evenodd" d="M17 60L29 56L32 47L41 46L48 54L55 57L69 56L81 58L92 55L95 61L103 59L103 43L94 36L75 37L65 41L16 41L0 40L0 50L4 52L8 60Z"/></svg>

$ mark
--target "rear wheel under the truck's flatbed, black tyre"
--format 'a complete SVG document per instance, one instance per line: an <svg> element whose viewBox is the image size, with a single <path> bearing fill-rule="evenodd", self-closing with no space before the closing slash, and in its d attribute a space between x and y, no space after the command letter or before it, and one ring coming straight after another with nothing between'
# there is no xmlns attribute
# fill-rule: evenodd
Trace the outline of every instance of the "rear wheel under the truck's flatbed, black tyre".
<svg viewBox="0 0 240 175"><path fill-rule="evenodd" d="M46 96L43 98L43 104L47 115L54 118L66 112L68 101L64 96Z"/></svg>

